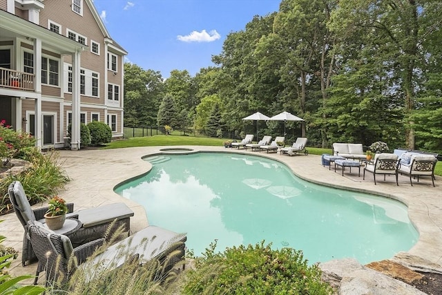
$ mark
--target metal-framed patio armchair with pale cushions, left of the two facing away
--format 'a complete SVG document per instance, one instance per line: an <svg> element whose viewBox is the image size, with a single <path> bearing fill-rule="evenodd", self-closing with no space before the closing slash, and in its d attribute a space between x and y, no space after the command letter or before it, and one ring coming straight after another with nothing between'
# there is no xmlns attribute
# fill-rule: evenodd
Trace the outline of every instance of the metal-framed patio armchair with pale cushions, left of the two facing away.
<svg viewBox="0 0 442 295"><path fill-rule="evenodd" d="M396 175L396 185L398 184L398 155L394 153L376 153L373 164L367 162L364 167L363 180L365 180L365 171L373 173L374 184L376 185L376 174Z"/></svg>

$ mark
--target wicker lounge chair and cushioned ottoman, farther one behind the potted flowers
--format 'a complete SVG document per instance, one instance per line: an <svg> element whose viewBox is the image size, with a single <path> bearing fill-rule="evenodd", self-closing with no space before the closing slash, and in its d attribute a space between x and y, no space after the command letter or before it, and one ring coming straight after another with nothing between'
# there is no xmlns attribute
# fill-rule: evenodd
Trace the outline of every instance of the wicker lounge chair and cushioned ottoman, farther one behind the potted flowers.
<svg viewBox="0 0 442 295"><path fill-rule="evenodd" d="M44 214L48 211L48 207L32 210L26 193L19 181L12 182L9 185L8 194L17 218L19 218L24 229L21 264L25 266L28 261L36 258L30 240L27 238L28 222L38 220L44 223ZM76 212L73 212L73 203L67 205L71 213L68 213L66 217L78 220L77 228L68 234L74 245L81 245L90 240L102 238L114 220L116 220L116 222L114 222L114 229L124 226L124 231L130 234L133 211L124 203L107 204Z"/></svg>

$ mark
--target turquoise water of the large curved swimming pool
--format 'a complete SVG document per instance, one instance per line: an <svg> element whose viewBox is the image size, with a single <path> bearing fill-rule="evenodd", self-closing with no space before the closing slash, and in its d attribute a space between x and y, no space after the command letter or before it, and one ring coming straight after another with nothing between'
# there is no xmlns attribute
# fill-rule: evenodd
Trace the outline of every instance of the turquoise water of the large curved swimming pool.
<svg viewBox="0 0 442 295"><path fill-rule="evenodd" d="M300 249L309 263L370 263L409 250L419 234L401 202L311 184L280 162L253 155L155 155L153 169L115 189L142 204L148 222L187 233L200 256L265 240Z"/></svg>

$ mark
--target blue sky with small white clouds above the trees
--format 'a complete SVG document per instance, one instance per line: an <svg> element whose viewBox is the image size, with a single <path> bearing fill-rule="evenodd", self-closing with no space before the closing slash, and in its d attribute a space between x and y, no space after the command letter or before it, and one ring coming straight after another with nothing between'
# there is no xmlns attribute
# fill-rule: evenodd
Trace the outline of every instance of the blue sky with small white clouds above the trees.
<svg viewBox="0 0 442 295"><path fill-rule="evenodd" d="M94 0L126 61L144 70L187 70L215 66L230 32L244 30L253 16L278 11L280 0Z"/></svg>

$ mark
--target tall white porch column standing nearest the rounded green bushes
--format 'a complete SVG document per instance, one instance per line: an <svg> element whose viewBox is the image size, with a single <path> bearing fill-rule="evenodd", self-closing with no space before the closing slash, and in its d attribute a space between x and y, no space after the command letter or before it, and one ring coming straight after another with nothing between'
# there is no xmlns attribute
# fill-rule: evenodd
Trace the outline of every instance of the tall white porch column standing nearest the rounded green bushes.
<svg viewBox="0 0 442 295"><path fill-rule="evenodd" d="M80 53L72 55L72 129L70 131L70 149L80 149Z"/></svg>

